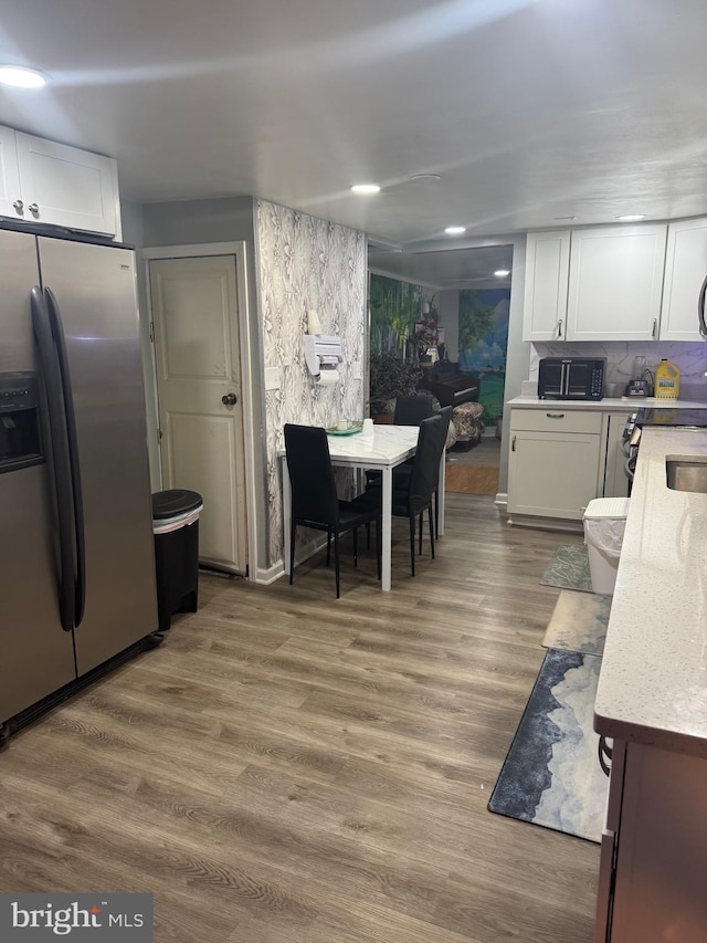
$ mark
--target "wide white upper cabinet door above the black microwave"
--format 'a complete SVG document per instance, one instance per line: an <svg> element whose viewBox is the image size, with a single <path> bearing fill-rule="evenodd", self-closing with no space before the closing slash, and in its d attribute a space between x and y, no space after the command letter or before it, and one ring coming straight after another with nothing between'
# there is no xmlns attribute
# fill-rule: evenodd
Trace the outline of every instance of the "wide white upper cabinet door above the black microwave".
<svg viewBox="0 0 707 943"><path fill-rule="evenodd" d="M572 232L568 340L656 340L667 227Z"/></svg>

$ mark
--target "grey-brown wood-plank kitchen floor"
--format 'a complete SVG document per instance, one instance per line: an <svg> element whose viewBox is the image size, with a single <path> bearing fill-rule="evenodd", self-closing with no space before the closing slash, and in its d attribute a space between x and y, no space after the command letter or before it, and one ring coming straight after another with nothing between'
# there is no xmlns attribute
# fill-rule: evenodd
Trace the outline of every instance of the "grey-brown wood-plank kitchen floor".
<svg viewBox="0 0 707 943"><path fill-rule="evenodd" d="M157 943L589 943L599 846L487 811L567 534L447 495L437 558L200 611L0 754L0 890L151 891Z"/></svg>

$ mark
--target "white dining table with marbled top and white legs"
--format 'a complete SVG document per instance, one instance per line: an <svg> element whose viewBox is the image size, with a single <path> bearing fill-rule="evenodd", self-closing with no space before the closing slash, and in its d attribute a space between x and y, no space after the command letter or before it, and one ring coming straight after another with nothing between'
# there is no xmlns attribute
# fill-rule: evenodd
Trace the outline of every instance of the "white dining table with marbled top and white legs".
<svg viewBox="0 0 707 943"><path fill-rule="evenodd" d="M381 534L381 588L391 587L391 547L392 547L392 497L393 469L414 455L418 449L418 426L373 426L372 436L356 432L351 436L329 434L329 455L331 464L351 469L379 469L382 475L382 534ZM283 559L285 573L289 573L289 552L287 548L288 523L292 516L292 492L287 460L283 459ZM440 461L439 525L440 536L444 533L444 462Z"/></svg>

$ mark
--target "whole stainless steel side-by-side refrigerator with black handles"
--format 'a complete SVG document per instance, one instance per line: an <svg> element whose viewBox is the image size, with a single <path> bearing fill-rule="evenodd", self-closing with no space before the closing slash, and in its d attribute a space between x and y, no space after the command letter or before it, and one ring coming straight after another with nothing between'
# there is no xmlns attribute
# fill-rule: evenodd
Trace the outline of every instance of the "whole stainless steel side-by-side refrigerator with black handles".
<svg viewBox="0 0 707 943"><path fill-rule="evenodd" d="M0 229L0 740L157 625L134 253Z"/></svg>

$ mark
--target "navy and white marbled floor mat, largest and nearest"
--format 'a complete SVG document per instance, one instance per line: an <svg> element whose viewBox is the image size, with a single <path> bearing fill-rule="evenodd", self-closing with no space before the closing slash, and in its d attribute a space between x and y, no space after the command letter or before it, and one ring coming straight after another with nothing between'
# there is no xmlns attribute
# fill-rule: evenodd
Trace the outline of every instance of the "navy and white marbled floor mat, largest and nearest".
<svg viewBox="0 0 707 943"><path fill-rule="evenodd" d="M601 841L609 779L592 730L601 659L548 649L488 808Z"/></svg>

